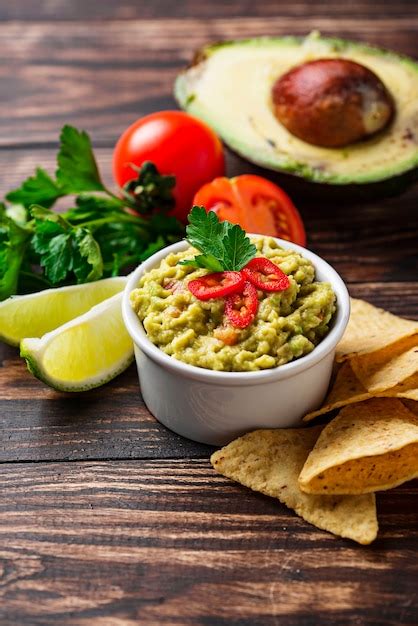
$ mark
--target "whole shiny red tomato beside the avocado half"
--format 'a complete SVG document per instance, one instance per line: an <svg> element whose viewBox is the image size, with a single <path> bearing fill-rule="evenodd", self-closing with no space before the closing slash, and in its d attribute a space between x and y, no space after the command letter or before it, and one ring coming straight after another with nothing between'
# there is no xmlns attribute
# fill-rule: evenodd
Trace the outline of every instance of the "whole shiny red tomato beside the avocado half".
<svg viewBox="0 0 418 626"><path fill-rule="evenodd" d="M225 173L222 144L200 120L182 111L159 111L137 120L119 138L113 153L113 175L120 187L140 166L152 161L161 174L174 174L173 214L186 220L197 190Z"/></svg>

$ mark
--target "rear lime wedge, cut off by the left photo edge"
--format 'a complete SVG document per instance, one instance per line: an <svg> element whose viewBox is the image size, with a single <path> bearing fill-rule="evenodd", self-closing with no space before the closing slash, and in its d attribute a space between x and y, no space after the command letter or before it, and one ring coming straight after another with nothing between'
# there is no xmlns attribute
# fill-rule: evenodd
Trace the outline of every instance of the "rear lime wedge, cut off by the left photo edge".
<svg viewBox="0 0 418 626"><path fill-rule="evenodd" d="M122 291L126 276L12 296L0 303L0 340L18 346L24 337L42 337Z"/></svg>

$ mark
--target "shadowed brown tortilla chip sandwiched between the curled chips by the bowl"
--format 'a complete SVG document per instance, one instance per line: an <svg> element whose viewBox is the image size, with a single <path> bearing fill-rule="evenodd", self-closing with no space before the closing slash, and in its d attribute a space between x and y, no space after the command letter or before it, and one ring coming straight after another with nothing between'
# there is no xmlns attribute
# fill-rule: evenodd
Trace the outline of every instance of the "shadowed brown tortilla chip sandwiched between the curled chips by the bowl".
<svg viewBox="0 0 418 626"><path fill-rule="evenodd" d="M335 382L328 392L322 407L305 415L303 421L309 422L319 415L329 413L334 409L340 409L343 406L347 406L347 404L369 400L374 396L418 400L418 374L413 374L390 389L371 393L361 384L353 372L350 362L346 361L341 365Z"/></svg>

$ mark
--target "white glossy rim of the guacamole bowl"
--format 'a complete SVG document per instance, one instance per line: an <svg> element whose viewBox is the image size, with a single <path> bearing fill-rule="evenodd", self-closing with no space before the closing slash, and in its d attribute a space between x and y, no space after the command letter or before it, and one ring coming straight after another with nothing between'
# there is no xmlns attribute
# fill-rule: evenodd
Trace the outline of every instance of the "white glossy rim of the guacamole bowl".
<svg viewBox="0 0 418 626"><path fill-rule="evenodd" d="M257 235L248 233L249 237L266 237L267 235ZM305 258L312 261L315 272L322 275L321 282L330 282L334 293L337 297L337 311L333 320L332 328L322 341L315 346L309 354L279 365L277 367L258 370L256 372L224 372L218 370L206 369L197 365L189 365L183 361L179 361L168 354L165 354L160 348L154 345L144 330L142 323L134 312L130 303L130 294L137 287L140 277L147 271L156 267L168 254L172 252L180 252L189 247L189 243L183 239L170 246L156 252L146 261L143 261L128 277L122 297L122 315L128 333L130 334L134 344L142 350L150 359L166 369L177 372L179 375L200 380L205 383L222 384L224 386L239 386L243 384L261 384L274 380L284 380L308 370L316 363L325 358L333 351L344 334L350 316L350 296L347 287L336 272L336 270L327 261L320 256L311 252L307 248L295 244L293 242L272 237L280 246L285 249L293 249L301 253Z"/></svg>

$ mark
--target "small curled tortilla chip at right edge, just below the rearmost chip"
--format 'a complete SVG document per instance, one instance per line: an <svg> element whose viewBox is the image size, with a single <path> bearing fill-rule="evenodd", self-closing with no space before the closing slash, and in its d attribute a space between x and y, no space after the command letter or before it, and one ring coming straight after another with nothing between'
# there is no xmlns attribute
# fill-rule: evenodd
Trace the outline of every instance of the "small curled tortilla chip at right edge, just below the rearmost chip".
<svg viewBox="0 0 418 626"><path fill-rule="evenodd" d="M367 391L386 391L418 372L418 335L380 352L354 357L350 363Z"/></svg>

